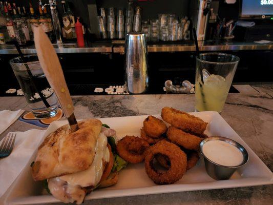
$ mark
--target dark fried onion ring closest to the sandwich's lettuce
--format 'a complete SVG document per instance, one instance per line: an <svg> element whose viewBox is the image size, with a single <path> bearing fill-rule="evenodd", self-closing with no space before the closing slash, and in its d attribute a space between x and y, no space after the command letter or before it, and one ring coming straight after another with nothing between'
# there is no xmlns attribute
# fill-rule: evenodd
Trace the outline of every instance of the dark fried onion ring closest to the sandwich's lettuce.
<svg viewBox="0 0 273 205"><path fill-rule="evenodd" d="M117 143L118 155L130 163L139 163L144 160L144 152L149 148L148 142L135 136L125 136Z"/></svg>

